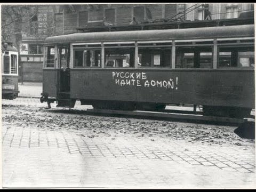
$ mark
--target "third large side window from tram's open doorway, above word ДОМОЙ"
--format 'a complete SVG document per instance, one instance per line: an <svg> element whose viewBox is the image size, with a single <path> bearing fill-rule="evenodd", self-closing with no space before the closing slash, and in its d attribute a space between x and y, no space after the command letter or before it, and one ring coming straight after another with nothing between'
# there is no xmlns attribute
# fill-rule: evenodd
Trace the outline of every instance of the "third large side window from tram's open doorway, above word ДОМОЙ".
<svg viewBox="0 0 256 192"><path fill-rule="evenodd" d="M165 43L161 43L161 45L139 44L138 68L172 68L172 49L171 44ZM166 50L166 52L169 53L167 54L167 57L166 52L163 52L163 50ZM148 54L148 57L150 55L149 59L147 59L148 57L145 58L145 56L143 56L143 51ZM167 60L167 58L169 58L169 60ZM142 60L144 60L146 64ZM163 65L164 63L167 63L167 65Z"/></svg>

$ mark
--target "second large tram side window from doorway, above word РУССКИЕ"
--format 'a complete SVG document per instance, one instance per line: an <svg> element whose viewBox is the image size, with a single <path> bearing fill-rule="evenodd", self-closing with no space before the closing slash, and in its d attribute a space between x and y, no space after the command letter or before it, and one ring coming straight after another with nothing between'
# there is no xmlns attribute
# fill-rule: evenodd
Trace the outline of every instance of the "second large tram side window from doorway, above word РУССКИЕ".
<svg viewBox="0 0 256 192"><path fill-rule="evenodd" d="M105 49L105 67L134 67L134 53L132 48Z"/></svg>

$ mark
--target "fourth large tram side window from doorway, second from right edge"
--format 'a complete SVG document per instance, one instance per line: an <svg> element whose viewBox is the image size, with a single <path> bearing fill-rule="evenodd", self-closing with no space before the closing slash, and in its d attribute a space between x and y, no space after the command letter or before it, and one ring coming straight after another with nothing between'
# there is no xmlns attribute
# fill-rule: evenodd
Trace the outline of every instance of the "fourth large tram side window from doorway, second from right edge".
<svg viewBox="0 0 256 192"><path fill-rule="evenodd" d="M175 68L212 68L212 47L177 47Z"/></svg>

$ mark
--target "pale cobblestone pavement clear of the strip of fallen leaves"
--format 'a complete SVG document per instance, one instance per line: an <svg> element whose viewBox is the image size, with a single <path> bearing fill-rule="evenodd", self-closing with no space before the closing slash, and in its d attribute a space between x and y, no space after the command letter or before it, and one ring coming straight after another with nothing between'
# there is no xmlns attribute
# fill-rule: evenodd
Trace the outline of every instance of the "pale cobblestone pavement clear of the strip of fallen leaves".
<svg viewBox="0 0 256 192"><path fill-rule="evenodd" d="M29 98L3 100L2 105L46 107ZM88 137L84 129L52 129L50 124L2 125L3 187L255 187L254 145L207 145L129 133Z"/></svg>

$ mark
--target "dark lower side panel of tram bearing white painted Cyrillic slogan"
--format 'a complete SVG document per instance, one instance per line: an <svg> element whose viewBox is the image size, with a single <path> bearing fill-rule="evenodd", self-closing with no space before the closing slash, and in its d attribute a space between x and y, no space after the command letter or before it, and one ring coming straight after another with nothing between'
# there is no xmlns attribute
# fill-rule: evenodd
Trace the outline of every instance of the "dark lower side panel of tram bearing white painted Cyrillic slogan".
<svg viewBox="0 0 256 192"><path fill-rule="evenodd" d="M253 70L71 70L73 99L254 108Z"/></svg>

